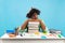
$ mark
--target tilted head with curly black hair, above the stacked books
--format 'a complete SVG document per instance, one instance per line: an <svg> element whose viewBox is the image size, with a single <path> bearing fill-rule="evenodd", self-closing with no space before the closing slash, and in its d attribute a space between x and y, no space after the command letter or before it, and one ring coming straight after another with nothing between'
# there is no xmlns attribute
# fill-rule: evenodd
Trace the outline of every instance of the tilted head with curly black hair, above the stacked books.
<svg viewBox="0 0 65 43"><path fill-rule="evenodd" d="M40 15L40 11L37 9L31 9L29 13L26 15L26 17L37 19L38 15Z"/></svg>

